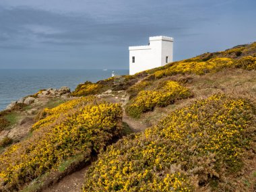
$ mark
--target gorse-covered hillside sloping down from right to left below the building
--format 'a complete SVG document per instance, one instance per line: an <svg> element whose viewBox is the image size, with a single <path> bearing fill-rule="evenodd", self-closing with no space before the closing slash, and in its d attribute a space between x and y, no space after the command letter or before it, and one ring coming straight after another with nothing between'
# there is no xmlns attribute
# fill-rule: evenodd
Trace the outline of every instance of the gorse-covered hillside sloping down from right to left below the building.
<svg viewBox="0 0 256 192"><path fill-rule="evenodd" d="M0 128L0 191L77 170L69 191L255 191L256 42L13 106Z"/></svg>

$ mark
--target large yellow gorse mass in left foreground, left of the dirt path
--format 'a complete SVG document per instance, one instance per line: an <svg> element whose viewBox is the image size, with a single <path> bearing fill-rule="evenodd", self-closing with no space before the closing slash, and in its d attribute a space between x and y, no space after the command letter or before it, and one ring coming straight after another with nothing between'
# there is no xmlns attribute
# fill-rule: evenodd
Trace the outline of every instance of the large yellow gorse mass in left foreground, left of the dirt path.
<svg viewBox="0 0 256 192"><path fill-rule="evenodd" d="M71 106L79 107L72 110ZM11 146L0 155L0 191L4 188L21 189L24 183L57 168L70 156L84 154L85 159L90 160L93 151L98 153L120 133L120 104L81 98L50 109L48 113L52 115L49 117L58 117L57 114L68 108L72 111L59 123L42 123L39 129L33 131L32 137Z"/></svg>

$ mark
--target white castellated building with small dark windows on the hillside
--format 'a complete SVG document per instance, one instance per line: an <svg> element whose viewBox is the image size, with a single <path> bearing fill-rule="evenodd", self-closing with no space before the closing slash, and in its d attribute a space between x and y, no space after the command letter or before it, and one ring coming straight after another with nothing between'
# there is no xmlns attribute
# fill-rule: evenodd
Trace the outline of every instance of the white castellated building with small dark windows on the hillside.
<svg viewBox="0 0 256 192"><path fill-rule="evenodd" d="M172 62L173 38L151 36L145 46L129 46L129 74L153 69Z"/></svg>

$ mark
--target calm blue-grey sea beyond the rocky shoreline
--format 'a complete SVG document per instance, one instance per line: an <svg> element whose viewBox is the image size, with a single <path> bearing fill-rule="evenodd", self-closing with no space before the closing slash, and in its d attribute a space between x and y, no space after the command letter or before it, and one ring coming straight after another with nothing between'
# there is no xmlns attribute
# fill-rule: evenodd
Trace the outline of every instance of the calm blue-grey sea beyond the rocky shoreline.
<svg viewBox="0 0 256 192"><path fill-rule="evenodd" d="M114 70L115 74L127 75L128 69ZM74 90L77 84L97 82L111 77L112 70L101 69L0 69L0 110L11 101L34 94L40 89L68 86Z"/></svg>

